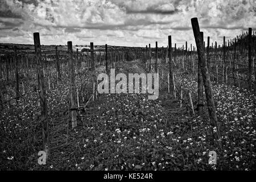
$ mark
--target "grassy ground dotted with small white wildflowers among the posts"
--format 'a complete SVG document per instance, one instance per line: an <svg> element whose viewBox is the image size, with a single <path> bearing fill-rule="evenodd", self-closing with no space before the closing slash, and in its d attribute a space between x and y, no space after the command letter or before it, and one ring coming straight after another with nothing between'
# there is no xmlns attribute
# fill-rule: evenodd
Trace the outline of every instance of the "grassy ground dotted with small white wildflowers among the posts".
<svg viewBox="0 0 256 182"><path fill-rule="evenodd" d="M131 66L137 64L138 67ZM166 65L159 65L159 72ZM117 73L142 72L137 63L122 63ZM97 73L104 67L97 68ZM48 74L48 73L46 73ZM64 74L63 74L64 75ZM79 74L76 85L85 100L92 93L91 72ZM210 127L207 107L194 116L189 107L191 92L196 106L197 82L190 72L175 72L176 88L183 85L184 103L171 98L161 84L158 100L147 94L101 94L79 112L78 126L68 123L68 77L47 89L51 155L39 166L42 150L39 99L36 93L12 103L0 115L0 168L2 170L255 170L256 97L234 86L213 82L222 149ZM84 83L83 85L81 83ZM26 82L26 89L34 82ZM177 94L177 96L179 96ZM85 101L86 102L86 101ZM186 104L187 102L187 104ZM217 165L209 165L209 151L216 151Z"/></svg>

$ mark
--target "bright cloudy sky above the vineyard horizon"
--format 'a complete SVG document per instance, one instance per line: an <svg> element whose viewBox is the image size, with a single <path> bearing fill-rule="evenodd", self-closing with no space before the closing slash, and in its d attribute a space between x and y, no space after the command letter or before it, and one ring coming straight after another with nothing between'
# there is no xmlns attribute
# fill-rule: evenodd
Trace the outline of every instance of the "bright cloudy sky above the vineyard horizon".
<svg viewBox="0 0 256 182"><path fill-rule="evenodd" d="M0 0L0 43L193 45L191 18L205 38L222 44L248 27L256 28L254 0Z"/></svg>

